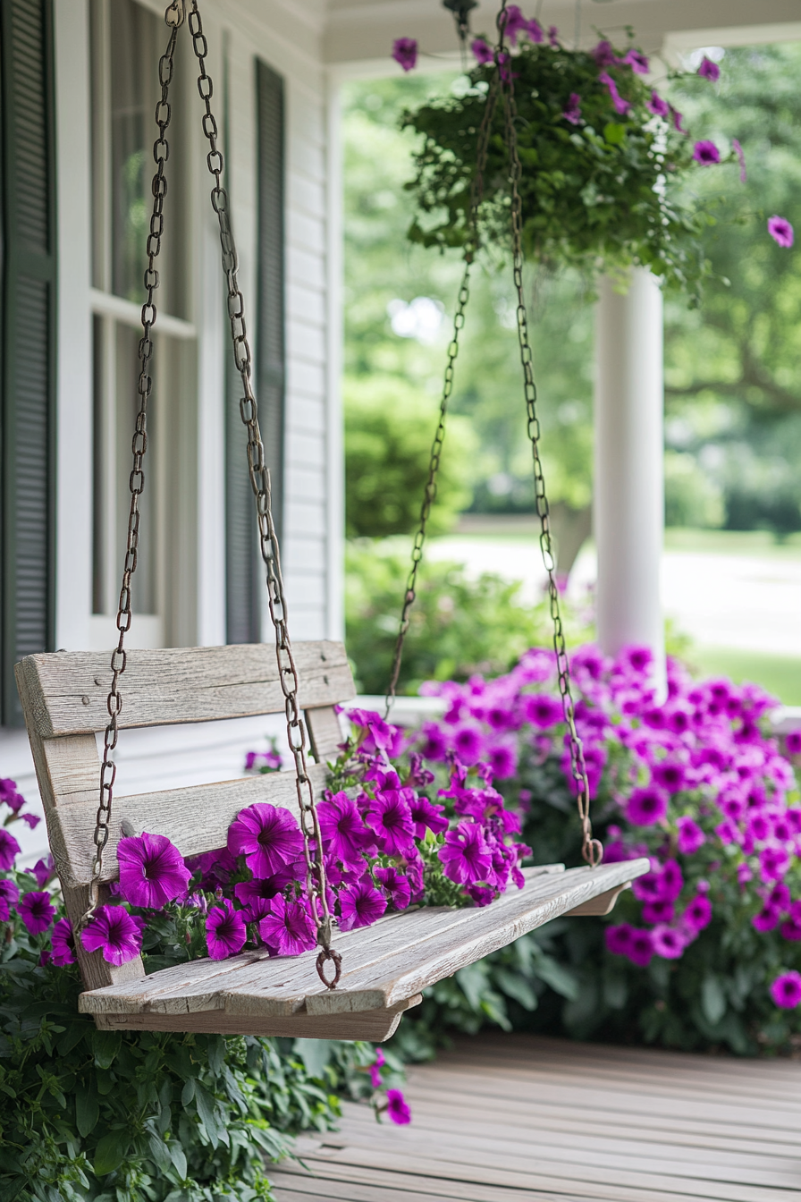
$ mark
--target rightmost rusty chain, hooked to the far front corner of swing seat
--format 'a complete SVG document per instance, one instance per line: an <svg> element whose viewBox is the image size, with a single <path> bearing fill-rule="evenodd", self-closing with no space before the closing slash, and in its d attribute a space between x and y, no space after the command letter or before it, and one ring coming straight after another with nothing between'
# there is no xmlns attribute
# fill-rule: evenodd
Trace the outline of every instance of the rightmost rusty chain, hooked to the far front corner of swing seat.
<svg viewBox="0 0 801 1202"><path fill-rule="evenodd" d="M497 16L498 28L498 53L496 61L498 75L502 70L501 54L503 54L503 35L507 22L507 0L502 0ZM573 706L573 694L570 691L570 665L567 656L564 642L564 629L562 626L562 614L560 611L560 595L556 584L556 560L554 557L554 543L551 537L551 519L548 496L545 495L545 477L543 464L539 457L540 428L537 417L537 385L534 383L533 357L528 341L528 315L526 310L526 297L522 285L522 204L520 200L520 179L522 167L518 150L518 131L515 120L518 109L514 99L514 73L513 59L507 53L506 70L501 82L501 96L503 101L503 117L506 142L509 150L509 174L512 184L512 261L514 269L514 286L518 293L518 341L520 345L520 362L522 364L524 389L526 397L527 433L531 441L531 457L534 470L534 499L537 514L539 517L540 534L539 547L543 553L543 564L548 572L548 596L550 601L551 619L554 621L554 650L556 651L556 668L558 673L558 689L562 697L562 710L568 728L570 743L570 773L576 786L576 804L579 819L581 821L581 855L584 859L594 868L603 859L604 849L599 839L592 837L592 822L590 821L590 781L584 760L584 748L575 728L575 713Z"/></svg>

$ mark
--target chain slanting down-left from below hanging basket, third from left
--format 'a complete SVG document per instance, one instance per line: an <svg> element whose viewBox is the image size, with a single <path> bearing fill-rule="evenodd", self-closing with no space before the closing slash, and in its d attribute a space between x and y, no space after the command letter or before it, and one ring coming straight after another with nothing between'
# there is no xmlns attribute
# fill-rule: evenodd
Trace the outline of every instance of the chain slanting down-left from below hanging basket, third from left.
<svg viewBox="0 0 801 1202"><path fill-rule="evenodd" d="M486 95L484 115L482 118L482 124L478 131L477 166L476 166L476 175L473 177L473 182L471 185L471 200L470 200L470 240L467 242L467 245L465 248L465 272L461 279L461 286L459 288L456 314L454 316L453 338L448 344L448 361L446 364L442 397L440 399L440 421L437 423L436 434L434 435L434 442L431 444L431 456L429 459L429 476L425 482L425 489L423 492L423 504L420 506L420 522L417 529L417 534L414 535L414 542L412 545L412 567L410 570L406 581L406 593L404 594L404 608L401 609L400 625L397 629L397 639L395 641L395 654L393 656L393 666L389 677L389 688L387 689L387 697L384 703L384 719L389 718L389 712L393 707L393 701L395 698L395 690L397 688L397 677L400 676L401 661L404 659L404 641L406 639L406 632L408 631L408 624L410 624L408 614L417 597L417 591L416 591L417 570L420 566L420 560L423 559L423 545L425 542L425 535L429 524L429 514L431 513L431 506L434 505L434 501L437 495L437 472L440 471L440 458L442 456L442 445L446 438L446 417L448 413L448 401L450 400L450 394L453 393L454 370L456 364L456 356L459 355L459 334L465 325L465 310L467 308L467 302L470 300L470 273L479 245L478 210L482 203L482 198L484 196L484 169L486 167L486 154L490 144L490 130L492 126L492 117L495 114L497 96L498 96L498 81L496 75L492 79L490 90Z"/></svg>

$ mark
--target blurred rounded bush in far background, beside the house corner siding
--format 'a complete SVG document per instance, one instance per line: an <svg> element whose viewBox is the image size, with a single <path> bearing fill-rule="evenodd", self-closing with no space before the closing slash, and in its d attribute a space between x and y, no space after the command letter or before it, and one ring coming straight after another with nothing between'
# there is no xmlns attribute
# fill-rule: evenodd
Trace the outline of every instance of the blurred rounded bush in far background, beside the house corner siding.
<svg viewBox="0 0 801 1202"><path fill-rule="evenodd" d="M411 534L420 519L437 404L397 376L345 382L345 516L348 536ZM476 436L464 417L448 421L429 530L449 530L472 495L465 464Z"/></svg>

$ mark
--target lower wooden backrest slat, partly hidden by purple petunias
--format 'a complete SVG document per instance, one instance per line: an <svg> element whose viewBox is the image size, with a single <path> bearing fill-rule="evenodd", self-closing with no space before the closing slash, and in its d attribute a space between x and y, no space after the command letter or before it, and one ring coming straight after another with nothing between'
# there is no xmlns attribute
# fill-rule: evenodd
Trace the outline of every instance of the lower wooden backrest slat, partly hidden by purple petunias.
<svg viewBox="0 0 801 1202"><path fill-rule="evenodd" d="M322 795L325 786L327 770L325 764L309 766L316 797ZM142 831L149 834L166 834L183 856L199 856L225 847L231 822L241 809L256 802L269 802L270 805L292 810L298 815L294 769L245 776L241 780L217 781L211 785L167 789L159 793L116 797L101 879L114 881L119 875L116 845L122 838L124 821L130 822L138 834ZM82 885L91 880L96 813L97 798L92 796L86 804L56 808L48 819L50 846L56 856L61 881L67 885Z"/></svg>

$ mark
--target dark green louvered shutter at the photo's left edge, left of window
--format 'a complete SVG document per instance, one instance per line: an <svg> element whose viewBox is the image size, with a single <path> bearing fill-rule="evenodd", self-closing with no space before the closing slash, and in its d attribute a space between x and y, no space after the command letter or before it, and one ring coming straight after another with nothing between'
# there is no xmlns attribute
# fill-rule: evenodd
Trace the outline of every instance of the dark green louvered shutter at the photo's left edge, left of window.
<svg viewBox="0 0 801 1202"><path fill-rule="evenodd" d="M53 77L50 0L1 0L4 725L22 722L14 664L23 655L53 648L56 281Z"/></svg>

